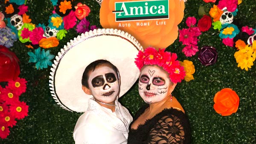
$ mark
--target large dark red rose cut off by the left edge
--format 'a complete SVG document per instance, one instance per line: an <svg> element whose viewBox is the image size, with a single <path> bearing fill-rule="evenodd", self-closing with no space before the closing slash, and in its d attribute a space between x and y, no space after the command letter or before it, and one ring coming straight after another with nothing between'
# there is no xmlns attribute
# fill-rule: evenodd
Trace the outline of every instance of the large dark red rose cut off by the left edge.
<svg viewBox="0 0 256 144"><path fill-rule="evenodd" d="M15 81L20 75L20 60L14 52L0 46L0 82Z"/></svg>

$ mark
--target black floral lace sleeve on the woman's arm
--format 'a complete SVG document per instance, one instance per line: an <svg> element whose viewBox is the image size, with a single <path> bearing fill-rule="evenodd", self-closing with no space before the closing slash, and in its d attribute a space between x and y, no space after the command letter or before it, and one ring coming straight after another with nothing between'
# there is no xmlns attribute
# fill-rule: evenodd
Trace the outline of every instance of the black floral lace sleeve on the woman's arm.
<svg viewBox="0 0 256 144"><path fill-rule="evenodd" d="M184 126L175 115L163 116L150 130L148 144L184 144Z"/></svg>

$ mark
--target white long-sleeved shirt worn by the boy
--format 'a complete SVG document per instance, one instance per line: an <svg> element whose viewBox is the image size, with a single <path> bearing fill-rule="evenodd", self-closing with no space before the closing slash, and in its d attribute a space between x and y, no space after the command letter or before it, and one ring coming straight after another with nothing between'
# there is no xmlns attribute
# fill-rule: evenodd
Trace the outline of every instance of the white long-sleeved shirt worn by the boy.
<svg viewBox="0 0 256 144"><path fill-rule="evenodd" d="M100 106L93 98L87 111L76 122L73 138L76 144L127 144L132 116L116 101L116 111Z"/></svg>

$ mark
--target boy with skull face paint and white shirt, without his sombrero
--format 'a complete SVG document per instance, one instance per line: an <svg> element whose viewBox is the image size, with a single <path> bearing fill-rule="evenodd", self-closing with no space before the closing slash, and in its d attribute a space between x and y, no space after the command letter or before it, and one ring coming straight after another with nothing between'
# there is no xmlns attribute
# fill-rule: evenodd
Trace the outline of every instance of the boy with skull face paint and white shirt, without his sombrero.
<svg viewBox="0 0 256 144"><path fill-rule="evenodd" d="M93 98L76 123L73 133L76 144L126 144L132 117L117 101L116 66L107 60L96 60L85 68L81 82L83 91Z"/></svg>

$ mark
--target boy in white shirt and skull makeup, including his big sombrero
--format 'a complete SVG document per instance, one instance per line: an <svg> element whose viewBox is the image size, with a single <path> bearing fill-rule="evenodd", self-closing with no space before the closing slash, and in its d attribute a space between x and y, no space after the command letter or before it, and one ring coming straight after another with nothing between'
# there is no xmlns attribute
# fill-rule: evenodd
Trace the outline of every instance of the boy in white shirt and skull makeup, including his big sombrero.
<svg viewBox="0 0 256 144"><path fill-rule="evenodd" d="M73 131L76 144L127 144L133 118L118 98L139 77L134 63L139 50L142 46L128 33L95 29L58 53L50 89L62 108L84 112Z"/></svg>

